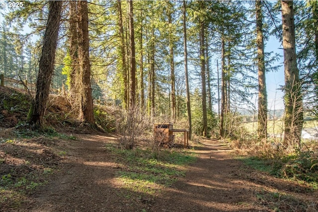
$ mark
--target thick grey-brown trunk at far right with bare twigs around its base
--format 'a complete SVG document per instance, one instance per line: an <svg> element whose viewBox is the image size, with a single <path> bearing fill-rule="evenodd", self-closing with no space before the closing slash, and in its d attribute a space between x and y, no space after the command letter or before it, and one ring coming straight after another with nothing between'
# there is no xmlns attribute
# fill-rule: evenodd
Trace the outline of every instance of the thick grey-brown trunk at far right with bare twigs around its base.
<svg viewBox="0 0 318 212"><path fill-rule="evenodd" d="M303 129L303 98L296 61L293 1L282 0L283 48L285 70L285 134L284 145L299 145Z"/></svg>

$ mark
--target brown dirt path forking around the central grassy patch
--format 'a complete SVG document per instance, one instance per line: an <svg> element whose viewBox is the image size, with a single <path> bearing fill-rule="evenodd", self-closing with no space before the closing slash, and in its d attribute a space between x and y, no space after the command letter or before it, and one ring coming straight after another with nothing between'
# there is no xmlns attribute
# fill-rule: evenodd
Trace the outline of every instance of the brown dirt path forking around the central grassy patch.
<svg viewBox="0 0 318 212"><path fill-rule="evenodd" d="M246 168L233 159L230 149L218 141L206 140L202 141L205 145L195 150L199 159L189 166L184 178L163 189L155 198L136 201L118 195L123 188L114 184L115 173L120 167L104 148L105 143L114 138L101 135L81 137L61 144L60 148L68 155L63 160L63 168L18 211L270 212L275 210L275 204L270 200L271 193L315 199L307 196L305 188L292 182ZM297 204L297 200L287 203Z"/></svg>

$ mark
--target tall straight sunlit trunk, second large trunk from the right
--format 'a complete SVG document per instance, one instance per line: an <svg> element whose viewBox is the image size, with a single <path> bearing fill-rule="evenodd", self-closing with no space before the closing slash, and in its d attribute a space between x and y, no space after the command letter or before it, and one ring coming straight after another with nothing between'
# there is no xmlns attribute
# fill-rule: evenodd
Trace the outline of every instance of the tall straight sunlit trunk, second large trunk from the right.
<svg viewBox="0 0 318 212"><path fill-rule="evenodd" d="M256 8L256 45L257 45L257 66L258 66L258 139L267 137L267 92L265 81L265 55L263 37L263 14L262 1L255 1Z"/></svg>

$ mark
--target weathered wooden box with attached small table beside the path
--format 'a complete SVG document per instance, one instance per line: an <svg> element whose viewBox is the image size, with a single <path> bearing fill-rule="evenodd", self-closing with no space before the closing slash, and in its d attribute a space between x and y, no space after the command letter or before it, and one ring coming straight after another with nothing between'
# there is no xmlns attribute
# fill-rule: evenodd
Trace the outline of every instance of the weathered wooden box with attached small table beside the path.
<svg viewBox="0 0 318 212"><path fill-rule="evenodd" d="M174 144L174 132L184 132L184 147L188 146L188 130L173 129L171 123L155 124L154 125L154 137L155 142L159 146L169 146Z"/></svg>

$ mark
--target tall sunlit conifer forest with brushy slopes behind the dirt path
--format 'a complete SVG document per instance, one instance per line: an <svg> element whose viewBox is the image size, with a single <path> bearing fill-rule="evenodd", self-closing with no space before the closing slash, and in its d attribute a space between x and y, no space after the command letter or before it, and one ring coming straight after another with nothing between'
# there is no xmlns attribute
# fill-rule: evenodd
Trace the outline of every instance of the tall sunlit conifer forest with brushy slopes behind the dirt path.
<svg viewBox="0 0 318 212"><path fill-rule="evenodd" d="M154 125L171 123L317 187L318 1L1 1L0 22L0 130L116 135L158 156Z"/></svg>

